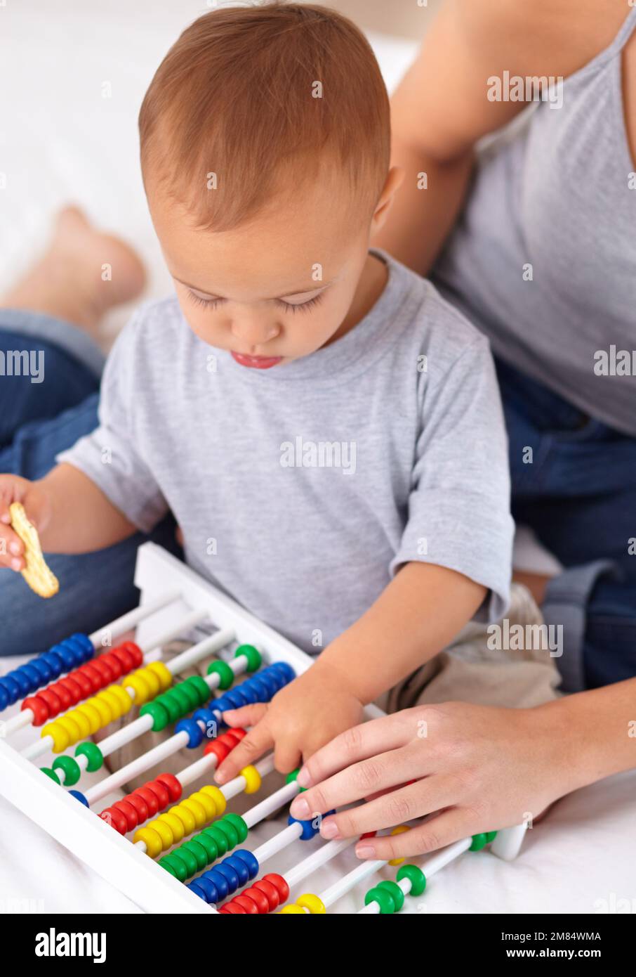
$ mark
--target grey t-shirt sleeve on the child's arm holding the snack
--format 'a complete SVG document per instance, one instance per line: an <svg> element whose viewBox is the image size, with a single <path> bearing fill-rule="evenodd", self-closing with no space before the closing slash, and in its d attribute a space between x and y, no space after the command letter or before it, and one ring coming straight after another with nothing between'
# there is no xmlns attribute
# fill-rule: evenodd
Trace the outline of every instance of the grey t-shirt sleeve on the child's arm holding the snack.
<svg viewBox="0 0 636 977"><path fill-rule="evenodd" d="M138 327L141 312L117 337L106 361L99 397L99 427L58 462L79 469L126 518L151 531L168 512L168 504L145 463L135 414L135 376L143 369Z"/></svg>

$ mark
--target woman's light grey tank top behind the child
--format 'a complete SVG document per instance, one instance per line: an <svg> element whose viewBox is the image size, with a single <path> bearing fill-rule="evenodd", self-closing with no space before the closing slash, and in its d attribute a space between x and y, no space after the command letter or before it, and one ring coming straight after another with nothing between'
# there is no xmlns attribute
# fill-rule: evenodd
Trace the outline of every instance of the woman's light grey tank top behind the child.
<svg viewBox="0 0 636 977"><path fill-rule="evenodd" d="M636 160L620 52L566 78L480 152L464 212L433 274L502 360L636 436ZM532 280L530 280L532 276Z"/></svg>

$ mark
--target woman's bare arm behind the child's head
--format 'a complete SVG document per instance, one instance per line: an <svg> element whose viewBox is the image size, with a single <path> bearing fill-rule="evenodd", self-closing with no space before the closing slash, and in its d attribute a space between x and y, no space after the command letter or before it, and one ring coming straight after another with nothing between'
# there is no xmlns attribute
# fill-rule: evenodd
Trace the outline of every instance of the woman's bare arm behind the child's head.
<svg viewBox="0 0 636 977"><path fill-rule="evenodd" d="M392 164L405 180L374 244L428 273L457 219L475 144L526 107L491 102L488 79L572 73L625 13L622 3L595 8L596 0L446 0L391 102Z"/></svg>

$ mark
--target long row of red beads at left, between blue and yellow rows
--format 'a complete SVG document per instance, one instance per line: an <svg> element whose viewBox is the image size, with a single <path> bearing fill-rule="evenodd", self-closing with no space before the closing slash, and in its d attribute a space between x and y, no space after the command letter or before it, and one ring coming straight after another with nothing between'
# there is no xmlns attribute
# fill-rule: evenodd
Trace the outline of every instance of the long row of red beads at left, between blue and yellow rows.
<svg viewBox="0 0 636 977"><path fill-rule="evenodd" d="M143 662L143 654L134 642L126 641L123 645L113 648L93 658L80 668L60 678L53 685L42 689L35 696L25 699L22 709L30 709L33 713L33 726L42 726L49 719L53 719L72 705L76 705L89 696L94 696L100 689L116 682L122 675L126 675L133 668L139 668Z"/></svg>

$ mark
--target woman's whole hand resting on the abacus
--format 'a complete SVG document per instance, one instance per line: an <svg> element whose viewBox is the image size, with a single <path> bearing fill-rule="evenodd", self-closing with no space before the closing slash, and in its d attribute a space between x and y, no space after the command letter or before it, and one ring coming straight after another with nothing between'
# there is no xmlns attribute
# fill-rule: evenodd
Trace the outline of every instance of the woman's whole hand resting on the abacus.
<svg viewBox="0 0 636 977"><path fill-rule="evenodd" d="M404 709L341 733L298 774L291 813L325 818L325 838L353 837L431 815L401 834L361 839L356 855L425 854L459 838L537 818L569 785L559 702L502 709L444 702ZM572 737L570 740L572 741Z"/></svg>

